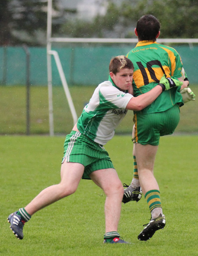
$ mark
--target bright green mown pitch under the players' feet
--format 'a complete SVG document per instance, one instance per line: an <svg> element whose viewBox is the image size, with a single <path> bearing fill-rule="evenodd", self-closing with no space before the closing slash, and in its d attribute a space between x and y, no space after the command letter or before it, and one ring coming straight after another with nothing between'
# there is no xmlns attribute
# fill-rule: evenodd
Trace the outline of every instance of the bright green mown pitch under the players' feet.
<svg viewBox="0 0 198 256"><path fill-rule="evenodd" d="M198 136L161 138L155 176L167 224L149 241L137 239L150 212L144 198L122 205L119 232L131 245L103 245L105 196L92 181L37 212L17 240L7 216L25 207L42 189L60 181L64 136L0 136L2 256L195 256L197 253ZM130 136L106 145L122 182L132 178Z"/></svg>

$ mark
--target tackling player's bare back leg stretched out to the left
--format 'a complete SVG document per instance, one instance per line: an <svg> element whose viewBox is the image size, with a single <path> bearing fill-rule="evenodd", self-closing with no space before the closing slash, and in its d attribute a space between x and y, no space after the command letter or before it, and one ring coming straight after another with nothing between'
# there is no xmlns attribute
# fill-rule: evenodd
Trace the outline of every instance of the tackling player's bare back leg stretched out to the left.
<svg viewBox="0 0 198 256"><path fill-rule="evenodd" d="M63 197L70 196L77 190L84 172L84 166L80 163L63 162L61 166L61 182L41 191L26 207L29 215L33 215L40 209L54 203Z"/></svg>

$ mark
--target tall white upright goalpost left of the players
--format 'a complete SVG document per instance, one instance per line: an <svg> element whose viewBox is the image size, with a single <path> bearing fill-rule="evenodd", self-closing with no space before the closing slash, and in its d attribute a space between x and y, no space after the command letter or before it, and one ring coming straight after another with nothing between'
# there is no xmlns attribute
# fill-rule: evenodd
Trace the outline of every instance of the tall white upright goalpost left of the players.
<svg viewBox="0 0 198 256"><path fill-rule="evenodd" d="M52 74L51 74L51 21L52 19L52 0L48 0L48 19L47 19L47 70L48 70L48 105L49 105L49 134L54 136L54 117L52 101Z"/></svg>

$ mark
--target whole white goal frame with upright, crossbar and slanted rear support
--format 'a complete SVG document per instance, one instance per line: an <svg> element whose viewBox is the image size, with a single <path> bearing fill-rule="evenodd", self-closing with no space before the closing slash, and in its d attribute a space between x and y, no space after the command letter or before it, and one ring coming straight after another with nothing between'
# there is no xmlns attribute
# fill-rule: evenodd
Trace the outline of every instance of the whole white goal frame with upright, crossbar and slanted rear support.
<svg viewBox="0 0 198 256"><path fill-rule="evenodd" d="M59 76L64 88L66 98L70 107L70 111L73 117L73 124L77 122L77 113L73 105L73 100L70 95L70 90L66 82L66 77L62 69L62 64L59 59L59 54L51 50L51 44L53 42L73 42L73 43L137 43L136 38L52 38L51 37L51 25L52 25L52 0L48 0L48 18L47 18L47 72L48 72L48 104L49 104L49 134L54 136L54 117L53 117L53 100L52 100L52 67L51 56L54 56L55 64L57 66ZM159 43L187 43L190 48L193 47L193 43L198 43L198 38L158 38Z"/></svg>

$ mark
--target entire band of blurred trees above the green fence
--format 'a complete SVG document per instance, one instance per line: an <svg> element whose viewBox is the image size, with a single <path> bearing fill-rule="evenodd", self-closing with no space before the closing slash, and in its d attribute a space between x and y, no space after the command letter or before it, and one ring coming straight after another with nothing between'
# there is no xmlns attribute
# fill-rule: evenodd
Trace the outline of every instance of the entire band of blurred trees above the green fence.
<svg viewBox="0 0 198 256"><path fill-rule="evenodd" d="M79 19L77 8L53 0L52 36L77 38L136 38L137 20L145 14L161 22L161 38L197 38L197 0L99 0L106 10L93 19ZM47 0L0 1L0 45L45 45Z"/></svg>

